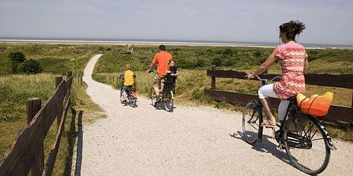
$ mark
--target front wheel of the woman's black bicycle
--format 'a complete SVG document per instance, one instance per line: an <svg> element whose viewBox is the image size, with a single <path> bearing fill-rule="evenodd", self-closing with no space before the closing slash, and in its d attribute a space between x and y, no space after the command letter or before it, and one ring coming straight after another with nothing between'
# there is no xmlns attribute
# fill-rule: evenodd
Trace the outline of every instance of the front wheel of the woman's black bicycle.
<svg viewBox="0 0 353 176"><path fill-rule="evenodd" d="M262 118L262 110L261 108L257 108L257 104L254 102L246 104L242 119L243 134L246 143L254 145L257 142L257 138L262 138L263 127L260 126L260 123L263 122Z"/></svg>

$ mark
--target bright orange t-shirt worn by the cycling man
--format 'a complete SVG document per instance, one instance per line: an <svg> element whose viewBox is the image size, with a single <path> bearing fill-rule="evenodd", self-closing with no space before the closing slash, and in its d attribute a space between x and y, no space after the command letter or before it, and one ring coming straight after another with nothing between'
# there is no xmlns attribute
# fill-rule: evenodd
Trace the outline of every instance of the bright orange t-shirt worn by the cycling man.
<svg viewBox="0 0 353 176"><path fill-rule="evenodd" d="M153 57L153 65L156 63L157 65L157 74L158 76L165 76L167 74L167 69L168 69L168 63L170 60L172 60L173 57L170 55L170 53L166 51L161 51Z"/></svg>

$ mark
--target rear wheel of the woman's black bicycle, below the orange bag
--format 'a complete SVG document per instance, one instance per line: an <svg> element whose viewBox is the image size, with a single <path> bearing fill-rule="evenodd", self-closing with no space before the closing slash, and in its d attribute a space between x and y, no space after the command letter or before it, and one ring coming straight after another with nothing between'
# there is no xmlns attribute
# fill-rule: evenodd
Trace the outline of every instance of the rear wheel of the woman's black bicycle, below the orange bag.
<svg viewBox="0 0 353 176"><path fill-rule="evenodd" d="M306 123L300 131L283 132L283 145L289 160L296 168L315 175L322 173L327 167L330 149L321 125L314 117L308 115L306 118Z"/></svg>

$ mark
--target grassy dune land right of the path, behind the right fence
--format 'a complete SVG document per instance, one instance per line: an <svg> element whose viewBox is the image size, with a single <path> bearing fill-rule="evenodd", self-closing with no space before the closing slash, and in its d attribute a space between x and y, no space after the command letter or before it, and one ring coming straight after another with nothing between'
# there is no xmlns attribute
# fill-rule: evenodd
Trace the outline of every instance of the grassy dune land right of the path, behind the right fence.
<svg viewBox="0 0 353 176"><path fill-rule="evenodd" d="M125 64L131 63L133 70L137 74L137 86L140 94L148 96L153 82L153 74L147 74L148 64L151 62L155 46L134 46L134 53L127 55L119 51L109 51L98 61L94 70L94 79L101 83L120 87L113 78L116 78L118 72L123 71ZM211 105L216 108L228 108L231 110L241 111L241 106L228 104L225 102L215 102L205 96L203 90L211 86L211 78L206 75L205 69L212 63L217 63L213 59L222 60L218 67L220 69L233 69L240 71L253 71L257 65L265 59L265 56L271 52L271 48L227 48L227 47L211 47L211 46L168 46L170 53L174 55L177 66L181 68L179 78L177 79L177 104L189 105ZM328 74L353 74L353 50L307 50L309 54L309 72L311 73L328 73ZM176 55L177 54L177 55ZM245 55L246 58L239 55ZM187 59L185 59L187 58ZM196 58L196 61L195 61ZM225 59L224 59L225 58ZM232 58L233 61L227 59ZM198 59L200 61L198 61ZM187 62L189 61L189 62ZM187 62L187 63L186 63ZM200 67L196 63L202 63ZM233 65L232 65L233 64ZM187 70L183 68L194 68ZM231 66L224 66L231 65ZM280 74L280 65L275 63L269 70L270 73ZM216 87L221 90L237 91L241 93L257 94L259 82L217 78ZM352 90L336 87L319 87L307 85L306 95L314 93L324 93L332 91L334 93L333 104L351 106ZM353 132L347 128L344 123L326 123L328 130L332 136L353 141ZM341 129L341 130L337 130Z"/></svg>

